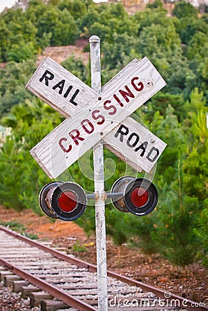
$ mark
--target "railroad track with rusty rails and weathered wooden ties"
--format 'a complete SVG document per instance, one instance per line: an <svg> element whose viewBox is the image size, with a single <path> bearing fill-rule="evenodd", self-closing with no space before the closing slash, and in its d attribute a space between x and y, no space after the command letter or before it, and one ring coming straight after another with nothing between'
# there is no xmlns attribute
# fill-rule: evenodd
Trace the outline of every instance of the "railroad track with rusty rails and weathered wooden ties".
<svg viewBox="0 0 208 311"><path fill-rule="evenodd" d="M0 226L0 281L30 296L38 310L97 310L96 266ZM109 311L205 311L205 303L184 299L108 271ZM11 310L13 311L13 310ZM106 310L102 310L106 311Z"/></svg>

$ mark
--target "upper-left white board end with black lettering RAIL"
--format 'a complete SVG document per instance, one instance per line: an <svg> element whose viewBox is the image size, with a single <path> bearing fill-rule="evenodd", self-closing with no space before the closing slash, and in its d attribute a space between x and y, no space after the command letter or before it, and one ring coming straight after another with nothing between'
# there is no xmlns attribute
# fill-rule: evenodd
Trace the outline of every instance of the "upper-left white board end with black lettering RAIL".
<svg viewBox="0 0 208 311"><path fill-rule="evenodd" d="M26 88L65 117L78 113L97 95L93 88L50 57L41 62Z"/></svg>

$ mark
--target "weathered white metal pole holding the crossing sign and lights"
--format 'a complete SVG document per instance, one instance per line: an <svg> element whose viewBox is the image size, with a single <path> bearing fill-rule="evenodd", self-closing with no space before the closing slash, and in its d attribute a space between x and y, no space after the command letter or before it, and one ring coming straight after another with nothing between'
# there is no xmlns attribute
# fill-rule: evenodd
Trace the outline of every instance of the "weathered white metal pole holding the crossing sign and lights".
<svg viewBox="0 0 208 311"><path fill-rule="evenodd" d="M91 87L101 92L100 38L89 39L91 50ZM104 153L103 141L93 148L95 185L95 228L97 249L97 292L98 310L108 310L107 267L106 267L106 220L104 191Z"/></svg>

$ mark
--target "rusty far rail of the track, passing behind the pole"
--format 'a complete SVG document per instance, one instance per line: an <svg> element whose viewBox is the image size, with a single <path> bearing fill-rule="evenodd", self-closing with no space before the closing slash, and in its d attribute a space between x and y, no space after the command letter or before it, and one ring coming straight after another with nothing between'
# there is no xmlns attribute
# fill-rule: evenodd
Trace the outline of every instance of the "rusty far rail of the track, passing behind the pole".
<svg viewBox="0 0 208 311"><path fill-rule="evenodd" d="M27 238L26 236L21 236L21 234L18 234L17 232L13 232L12 230L10 230L10 229L8 229L6 227L3 227L1 225L0 225L0 230L6 232L7 234L10 234L11 236L15 236L16 238L18 238L21 241L24 241L24 242L26 242L26 243L28 243L30 245L36 246L39 249L44 250L45 252L53 254L53 256L55 256L55 257L57 257L59 259L62 259L64 261L68 262L68 263L77 265L78 267L84 267L89 272L96 272L97 271L96 265L92 265L91 263L87 263L86 261L82 261L80 259L70 257L70 256L68 256L66 254L62 254L61 252L57 251L56 249L52 249L52 248L50 248L48 246L42 245L41 243L39 243L37 241L34 241L34 240L31 240L30 238ZM1 262L1 258L0 258L0 262ZM152 285L148 285L148 284L145 284L143 282L136 281L134 279L129 278L128 276L117 274L116 272L112 272L112 271L109 271L109 270L107 271L107 275L112 277L112 278L114 278L114 279L117 279L119 281L123 281L123 282L125 282L125 283L127 283L129 285L138 286L138 287L142 288L142 290L144 290L144 291L153 292L153 294L155 294L156 296L159 296L160 298L162 298L163 301L168 301L168 299L165 299L165 296L164 296L164 293L166 291L161 290L160 288L155 288ZM194 310L193 309L193 305L197 305L196 301L191 301L189 299L185 299L184 297L181 297L181 296L178 296L178 295L172 294L172 293L171 293L171 299L176 299L176 301L179 301L180 305L184 306L184 308L186 310L190 310L190 311ZM184 305L184 303L186 303L186 305ZM88 310L97 310L97 309L88 309ZM197 311L205 311L205 310L208 310L208 308L207 307L198 306L198 307L195 307L195 310L197 310Z"/></svg>

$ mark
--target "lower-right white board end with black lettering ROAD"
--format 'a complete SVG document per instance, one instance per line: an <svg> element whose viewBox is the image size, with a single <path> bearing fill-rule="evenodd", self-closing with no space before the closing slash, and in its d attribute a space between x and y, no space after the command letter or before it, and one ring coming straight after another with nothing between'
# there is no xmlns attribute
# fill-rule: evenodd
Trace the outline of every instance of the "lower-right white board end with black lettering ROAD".
<svg viewBox="0 0 208 311"><path fill-rule="evenodd" d="M131 167L141 167L149 173L167 146L151 131L127 117L107 135L108 149Z"/></svg>

